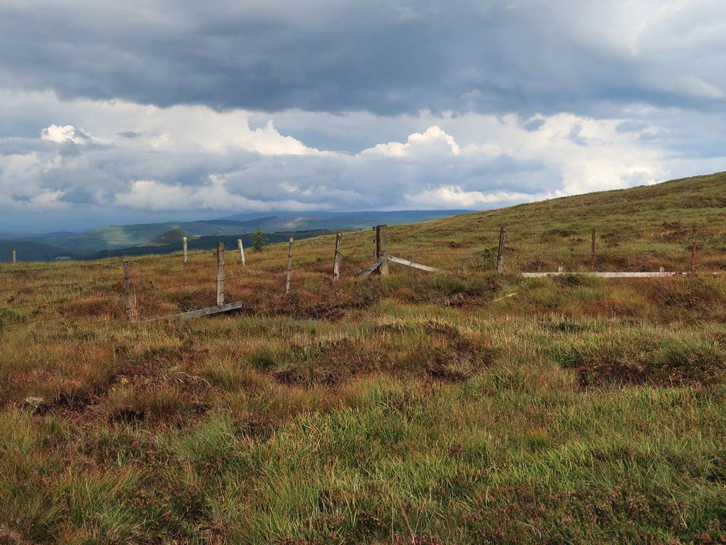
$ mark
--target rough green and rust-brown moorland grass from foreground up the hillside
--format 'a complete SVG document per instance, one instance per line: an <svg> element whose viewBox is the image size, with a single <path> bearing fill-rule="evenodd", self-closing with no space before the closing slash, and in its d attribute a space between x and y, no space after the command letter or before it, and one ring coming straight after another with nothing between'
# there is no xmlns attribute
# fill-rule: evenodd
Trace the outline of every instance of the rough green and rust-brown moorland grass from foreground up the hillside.
<svg viewBox="0 0 726 545"><path fill-rule="evenodd" d="M724 275L522 278L489 251L506 223L512 271L594 225L637 267L723 230L680 201L722 181L391 228L442 273L354 280L367 230L338 282L333 237L295 243L286 295L276 245L195 320L139 322L214 304L210 251L131 259L130 323L118 259L0 264L0 542L724 543Z"/></svg>

